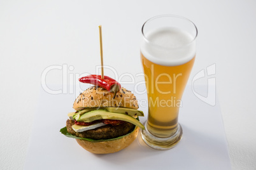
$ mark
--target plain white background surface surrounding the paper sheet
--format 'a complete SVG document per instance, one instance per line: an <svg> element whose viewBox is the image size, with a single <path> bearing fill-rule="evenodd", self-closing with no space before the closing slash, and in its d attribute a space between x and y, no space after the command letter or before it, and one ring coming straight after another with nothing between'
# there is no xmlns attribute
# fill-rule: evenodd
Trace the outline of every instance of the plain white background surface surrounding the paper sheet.
<svg viewBox="0 0 256 170"><path fill-rule="evenodd" d="M141 26L160 14L196 23L197 58L190 78L216 63L232 168L255 169L256 1L184 0L0 1L0 169L24 166L43 70L67 64L74 67L68 70L73 77L96 73L98 25L103 25L104 65L118 74L141 73ZM46 82L62 84L62 70L48 72Z"/></svg>

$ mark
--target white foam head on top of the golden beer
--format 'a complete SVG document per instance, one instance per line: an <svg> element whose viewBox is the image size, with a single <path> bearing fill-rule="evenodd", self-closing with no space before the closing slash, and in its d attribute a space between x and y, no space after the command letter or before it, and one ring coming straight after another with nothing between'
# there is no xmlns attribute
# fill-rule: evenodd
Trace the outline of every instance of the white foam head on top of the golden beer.
<svg viewBox="0 0 256 170"><path fill-rule="evenodd" d="M196 55L196 41L184 30L165 27L148 32L145 37L141 53L153 63L166 66L181 65Z"/></svg>

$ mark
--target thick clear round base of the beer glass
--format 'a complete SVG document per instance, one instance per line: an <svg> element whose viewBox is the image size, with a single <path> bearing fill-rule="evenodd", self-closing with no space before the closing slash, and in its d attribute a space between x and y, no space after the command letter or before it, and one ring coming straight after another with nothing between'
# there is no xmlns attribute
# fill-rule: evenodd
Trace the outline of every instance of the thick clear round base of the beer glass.
<svg viewBox="0 0 256 170"><path fill-rule="evenodd" d="M146 124L147 122L145 123L145 130L141 130L141 137L149 147L155 148L157 150L168 150L175 147L182 138L182 128L180 124L178 124L176 133L174 133L173 136L170 136L169 138L159 138L153 136L153 134L148 131Z"/></svg>

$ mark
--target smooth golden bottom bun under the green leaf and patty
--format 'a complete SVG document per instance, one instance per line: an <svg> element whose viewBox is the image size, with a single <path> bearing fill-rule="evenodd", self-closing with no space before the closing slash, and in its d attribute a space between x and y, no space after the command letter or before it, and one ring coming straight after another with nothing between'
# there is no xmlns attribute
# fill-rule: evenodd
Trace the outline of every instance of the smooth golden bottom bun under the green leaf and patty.
<svg viewBox="0 0 256 170"><path fill-rule="evenodd" d="M111 154L128 147L132 141L136 139L138 133L139 128L136 126L135 130L131 134L118 140L92 142L76 139L76 141L85 150L88 150L94 154Z"/></svg>

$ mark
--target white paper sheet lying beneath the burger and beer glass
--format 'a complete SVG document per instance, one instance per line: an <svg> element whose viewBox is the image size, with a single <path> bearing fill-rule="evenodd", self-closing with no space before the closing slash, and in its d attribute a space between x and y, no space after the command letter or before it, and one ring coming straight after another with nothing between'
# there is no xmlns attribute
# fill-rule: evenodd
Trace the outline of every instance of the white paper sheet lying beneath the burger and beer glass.
<svg viewBox="0 0 256 170"><path fill-rule="evenodd" d="M146 93L139 94L145 86L122 84L136 95L139 110L148 117ZM198 93L204 86L195 85ZM207 87L206 87L207 88ZM211 95L211 94L210 94ZM34 126L24 169L231 169L220 105L215 106L197 98L192 86L187 86L182 98L179 122L183 137L171 150L155 150L146 145L141 134L124 150L108 155L92 154L84 150L76 140L59 132L68 119L74 94L52 95L41 90L35 113ZM173 100L174 101L174 100ZM41 121L48 113L50 119Z"/></svg>

